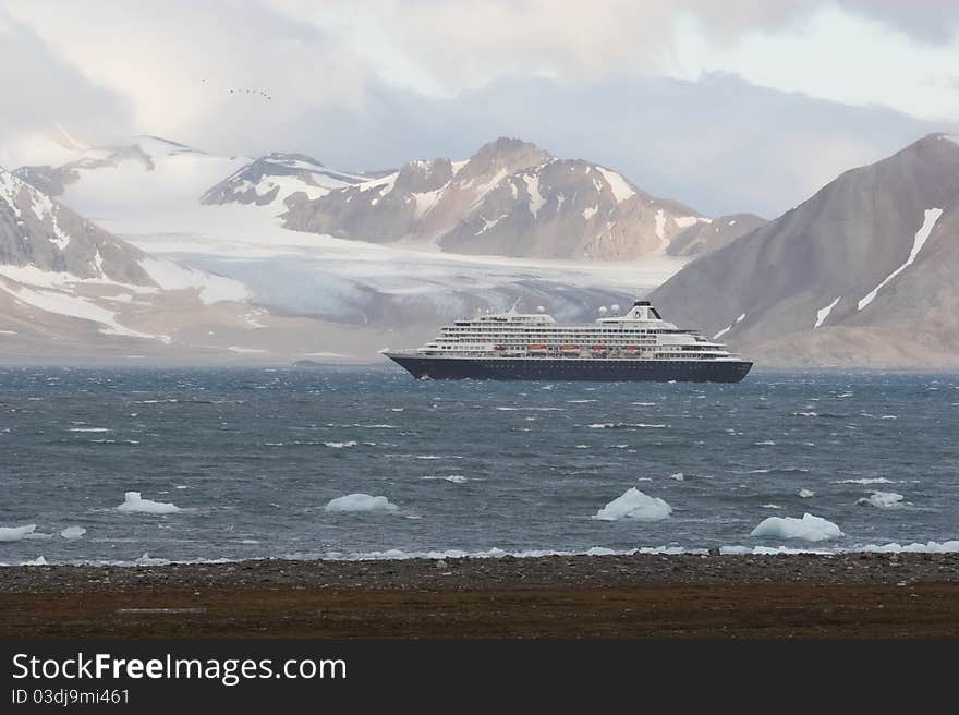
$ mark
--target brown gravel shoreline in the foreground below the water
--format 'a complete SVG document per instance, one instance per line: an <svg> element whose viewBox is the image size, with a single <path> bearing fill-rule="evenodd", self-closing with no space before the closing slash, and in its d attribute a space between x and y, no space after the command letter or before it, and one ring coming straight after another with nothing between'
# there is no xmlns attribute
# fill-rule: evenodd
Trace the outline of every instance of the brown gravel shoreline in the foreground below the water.
<svg viewBox="0 0 959 715"><path fill-rule="evenodd" d="M959 639L959 554L5 567L0 638Z"/></svg>

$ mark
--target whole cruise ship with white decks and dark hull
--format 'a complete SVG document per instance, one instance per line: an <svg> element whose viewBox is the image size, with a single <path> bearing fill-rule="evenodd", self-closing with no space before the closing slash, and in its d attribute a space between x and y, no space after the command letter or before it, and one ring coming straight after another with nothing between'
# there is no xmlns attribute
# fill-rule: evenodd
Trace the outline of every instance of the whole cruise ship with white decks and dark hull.
<svg viewBox="0 0 959 715"><path fill-rule="evenodd" d="M420 379L738 383L752 362L697 330L664 320L648 301L627 313L599 308L586 324L559 324L539 307L456 320L413 350L383 354Z"/></svg>

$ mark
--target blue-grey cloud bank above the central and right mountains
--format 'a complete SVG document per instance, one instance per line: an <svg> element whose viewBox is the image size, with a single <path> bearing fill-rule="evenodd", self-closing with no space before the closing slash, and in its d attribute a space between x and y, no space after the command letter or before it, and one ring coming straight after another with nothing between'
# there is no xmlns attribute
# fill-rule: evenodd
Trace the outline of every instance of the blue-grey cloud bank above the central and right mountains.
<svg viewBox="0 0 959 715"><path fill-rule="evenodd" d="M380 89L368 104L362 121L327 114L332 133L304 137L306 150L333 166L383 168L465 158L496 136L519 136L560 157L618 169L646 191L712 216L775 217L842 171L937 129L735 75L591 84L512 78L456 98Z"/></svg>

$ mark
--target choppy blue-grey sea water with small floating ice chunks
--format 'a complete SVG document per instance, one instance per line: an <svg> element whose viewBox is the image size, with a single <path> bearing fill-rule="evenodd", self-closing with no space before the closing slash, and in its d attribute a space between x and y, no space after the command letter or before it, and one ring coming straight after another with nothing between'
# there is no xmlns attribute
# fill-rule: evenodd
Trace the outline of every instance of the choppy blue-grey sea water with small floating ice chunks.
<svg viewBox="0 0 959 715"><path fill-rule="evenodd" d="M957 425L957 375L3 368L0 562L959 550Z"/></svg>

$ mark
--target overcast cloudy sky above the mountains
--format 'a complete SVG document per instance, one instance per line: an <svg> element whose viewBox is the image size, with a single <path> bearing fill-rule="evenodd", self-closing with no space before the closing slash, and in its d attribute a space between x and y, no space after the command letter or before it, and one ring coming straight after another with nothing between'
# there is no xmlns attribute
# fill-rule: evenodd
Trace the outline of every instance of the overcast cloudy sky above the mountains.
<svg viewBox="0 0 959 715"><path fill-rule="evenodd" d="M959 3L0 0L0 90L11 168L57 128L354 169L509 135L774 217L959 131Z"/></svg>

